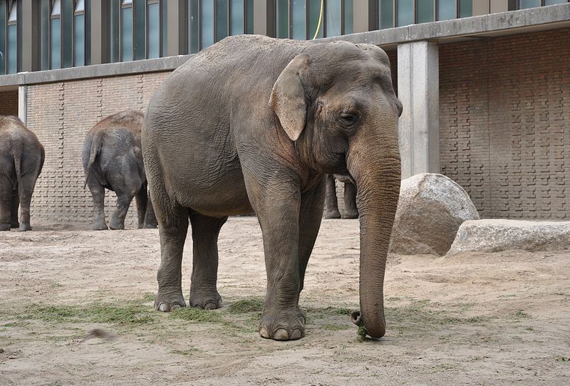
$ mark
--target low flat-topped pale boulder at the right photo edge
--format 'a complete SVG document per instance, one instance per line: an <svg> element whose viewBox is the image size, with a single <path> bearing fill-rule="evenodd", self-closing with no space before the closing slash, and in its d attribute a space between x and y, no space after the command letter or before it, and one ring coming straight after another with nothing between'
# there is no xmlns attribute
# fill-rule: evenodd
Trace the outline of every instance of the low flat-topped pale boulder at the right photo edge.
<svg viewBox="0 0 570 386"><path fill-rule="evenodd" d="M570 221L479 220L461 224L448 256L468 251L564 251L570 249Z"/></svg>

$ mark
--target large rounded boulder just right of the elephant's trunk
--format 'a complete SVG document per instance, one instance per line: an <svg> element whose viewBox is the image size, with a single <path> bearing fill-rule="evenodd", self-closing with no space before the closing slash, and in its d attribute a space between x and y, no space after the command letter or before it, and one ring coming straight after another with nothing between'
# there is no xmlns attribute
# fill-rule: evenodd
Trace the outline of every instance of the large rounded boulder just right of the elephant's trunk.
<svg viewBox="0 0 570 386"><path fill-rule="evenodd" d="M402 181L390 251L442 256L462 222L476 219L475 205L456 182L442 174L416 174Z"/></svg>

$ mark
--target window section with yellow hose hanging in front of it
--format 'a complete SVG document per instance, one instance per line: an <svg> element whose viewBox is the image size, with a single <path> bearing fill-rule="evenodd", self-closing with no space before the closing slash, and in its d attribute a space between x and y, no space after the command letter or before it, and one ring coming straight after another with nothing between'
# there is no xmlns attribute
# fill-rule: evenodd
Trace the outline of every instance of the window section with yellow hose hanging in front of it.
<svg viewBox="0 0 570 386"><path fill-rule="evenodd" d="M352 33L353 0L277 0L275 32L299 40Z"/></svg>

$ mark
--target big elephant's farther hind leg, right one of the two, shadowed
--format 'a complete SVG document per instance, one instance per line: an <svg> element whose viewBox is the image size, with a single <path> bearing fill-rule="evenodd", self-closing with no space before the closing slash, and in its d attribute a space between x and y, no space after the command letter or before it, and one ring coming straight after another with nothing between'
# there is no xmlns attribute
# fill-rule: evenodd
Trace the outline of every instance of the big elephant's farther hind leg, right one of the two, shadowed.
<svg viewBox="0 0 570 386"><path fill-rule="evenodd" d="M222 297L217 291L218 235L227 217L206 217L191 213L193 240L192 281L190 306L213 310L222 307Z"/></svg>

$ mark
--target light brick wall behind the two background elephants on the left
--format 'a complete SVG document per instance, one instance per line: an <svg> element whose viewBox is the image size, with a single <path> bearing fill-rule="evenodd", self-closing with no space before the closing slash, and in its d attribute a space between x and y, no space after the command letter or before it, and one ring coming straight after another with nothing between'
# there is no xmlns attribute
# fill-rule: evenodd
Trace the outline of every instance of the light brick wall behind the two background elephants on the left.
<svg viewBox="0 0 570 386"><path fill-rule="evenodd" d="M96 122L128 108L144 110L168 73L73 80L28 86L28 128L46 149L36 184L32 216L61 223L90 222L93 206L81 165L83 138ZM17 99L16 99L17 102ZM114 192L105 197L105 216L115 209ZM125 227L135 227L135 200Z"/></svg>

